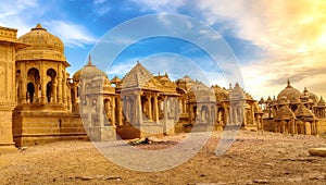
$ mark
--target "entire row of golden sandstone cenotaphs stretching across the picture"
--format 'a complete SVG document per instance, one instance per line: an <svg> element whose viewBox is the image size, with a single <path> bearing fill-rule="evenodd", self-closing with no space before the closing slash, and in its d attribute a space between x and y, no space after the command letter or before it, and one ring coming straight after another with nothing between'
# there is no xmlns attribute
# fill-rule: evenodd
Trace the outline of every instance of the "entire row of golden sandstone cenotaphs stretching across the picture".
<svg viewBox="0 0 326 185"><path fill-rule="evenodd" d="M256 102L238 83L222 88L189 76L172 81L167 73L153 75L140 62L124 77L110 79L91 57L71 78L62 40L40 24L20 38L16 29L0 27L0 148L225 127L325 131L323 98L306 89L301 94L290 83L277 100Z"/></svg>

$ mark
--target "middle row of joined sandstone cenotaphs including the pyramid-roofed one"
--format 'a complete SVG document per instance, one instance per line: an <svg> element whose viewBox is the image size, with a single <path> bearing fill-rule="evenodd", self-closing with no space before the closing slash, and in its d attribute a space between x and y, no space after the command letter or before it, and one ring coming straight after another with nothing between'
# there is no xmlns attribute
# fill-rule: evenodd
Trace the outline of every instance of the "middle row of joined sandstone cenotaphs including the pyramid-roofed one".
<svg viewBox="0 0 326 185"><path fill-rule="evenodd" d="M238 84L228 89L208 87L189 76L173 82L167 73L153 75L140 62L122 79L110 81L90 58L73 81L79 88L76 99L87 133L96 140L110 139L114 133L143 138L223 131L227 125L254 131L263 126L258 102Z"/></svg>

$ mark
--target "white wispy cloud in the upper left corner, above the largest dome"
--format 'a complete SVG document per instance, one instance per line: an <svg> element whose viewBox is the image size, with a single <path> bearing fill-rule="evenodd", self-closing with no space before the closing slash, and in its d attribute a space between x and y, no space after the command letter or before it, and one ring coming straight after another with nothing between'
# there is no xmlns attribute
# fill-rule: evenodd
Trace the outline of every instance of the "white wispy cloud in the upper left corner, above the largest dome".
<svg viewBox="0 0 326 185"><path fill-rule="evenodd" d="M60 37L66 47L84 48L85 45L92 45L97 40L84 25L76 24L68 20L48 20L43 16L50 9L52 2L47 4L40 3L38 0L30 1L1 1L0 2L0 25L14 27L18 29L18 37L30 32L37 22L41 23L52 34ZM36 11L38 10L38 11ZM54 12L55 13L55 12Z"/></svg>

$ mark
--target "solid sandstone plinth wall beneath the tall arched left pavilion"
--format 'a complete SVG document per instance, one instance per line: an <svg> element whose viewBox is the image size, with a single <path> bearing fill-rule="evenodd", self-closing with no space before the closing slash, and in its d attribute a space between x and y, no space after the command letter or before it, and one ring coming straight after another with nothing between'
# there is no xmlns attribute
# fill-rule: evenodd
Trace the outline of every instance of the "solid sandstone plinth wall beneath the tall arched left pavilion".
<svg viewBox="0 0 326 185"><path fill-rule="evenodd" d="M17 147L64 139L87 139L79 114L62 112L18 112L13 116L13 138Z"/></svg>

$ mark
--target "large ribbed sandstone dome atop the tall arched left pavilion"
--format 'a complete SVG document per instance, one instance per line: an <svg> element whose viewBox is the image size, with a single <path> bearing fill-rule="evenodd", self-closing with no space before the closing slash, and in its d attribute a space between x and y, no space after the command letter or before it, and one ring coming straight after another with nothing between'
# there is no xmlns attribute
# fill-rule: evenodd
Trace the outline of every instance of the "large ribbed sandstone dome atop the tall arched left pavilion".
<svg viewBox="0 0 326 185"><path fill-rule="evenodd" d="M65 61L62 40L50 34L40 24L29 33L21 36L17 41L28 45L16 52L16 60L54 60Z"/></svg>

